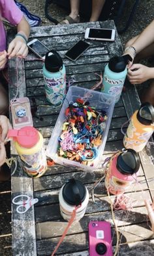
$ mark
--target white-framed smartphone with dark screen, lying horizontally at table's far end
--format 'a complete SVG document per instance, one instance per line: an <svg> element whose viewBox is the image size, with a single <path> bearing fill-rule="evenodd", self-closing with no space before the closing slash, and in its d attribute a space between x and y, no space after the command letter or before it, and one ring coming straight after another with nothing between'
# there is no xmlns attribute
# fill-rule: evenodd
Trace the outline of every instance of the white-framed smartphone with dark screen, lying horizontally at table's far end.
<svg viewBox="0 0 154 256"><path fill-rule="evenodd" d="M99 41L114 41L115 30L106 28L87 28L85 30L85 39Z"/></svg>

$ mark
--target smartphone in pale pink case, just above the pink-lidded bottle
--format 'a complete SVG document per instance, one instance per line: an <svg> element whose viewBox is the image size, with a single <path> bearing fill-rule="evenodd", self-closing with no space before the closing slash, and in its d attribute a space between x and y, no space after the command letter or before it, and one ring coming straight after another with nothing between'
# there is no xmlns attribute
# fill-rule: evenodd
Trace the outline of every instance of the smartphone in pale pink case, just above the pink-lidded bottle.
<svg viewBox="0 0 154 256"><path fill-rule="evenodd" d="M14 129L20 129L24 126L33 126L29 98L23 97L10 100L10 109Z"/></svg>

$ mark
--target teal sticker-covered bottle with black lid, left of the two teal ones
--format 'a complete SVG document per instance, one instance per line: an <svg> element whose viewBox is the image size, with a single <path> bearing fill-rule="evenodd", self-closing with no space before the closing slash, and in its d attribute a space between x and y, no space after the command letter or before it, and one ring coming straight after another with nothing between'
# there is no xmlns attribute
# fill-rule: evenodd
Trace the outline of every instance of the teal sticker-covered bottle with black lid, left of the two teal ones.
<svg viewBox="0 0 154 256"><path fill-rule="evenodd" d="M66 69L56 51L46 53L43 76L47 100L53 105L61 105L66 95Z"/></svg>

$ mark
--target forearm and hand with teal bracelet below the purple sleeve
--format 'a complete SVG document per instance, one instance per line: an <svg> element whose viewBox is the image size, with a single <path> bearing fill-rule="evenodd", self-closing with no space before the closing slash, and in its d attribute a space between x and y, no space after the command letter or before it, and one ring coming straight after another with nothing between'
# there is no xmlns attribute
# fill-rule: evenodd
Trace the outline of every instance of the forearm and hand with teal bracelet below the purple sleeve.
<svg viewBox="0 0 154 256"><path fill-rule="evenodd" d="M28 54L27 39L29 37L30 27L24 16L17 26L17 31L16 37L8 45L8 58L14 56L24 58Z"/></svg>

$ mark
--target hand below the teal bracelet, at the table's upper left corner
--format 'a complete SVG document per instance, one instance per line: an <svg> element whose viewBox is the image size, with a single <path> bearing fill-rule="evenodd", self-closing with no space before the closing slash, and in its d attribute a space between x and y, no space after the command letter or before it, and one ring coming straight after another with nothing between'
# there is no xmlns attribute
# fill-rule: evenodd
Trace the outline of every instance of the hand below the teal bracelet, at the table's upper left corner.
<svg viewBox="0 0 154 256"><path fill-rule="evenodd" d="M22 37L14 38L8 45L8 58L20 56L24 58L28 54L28 47Z"/></svg>

